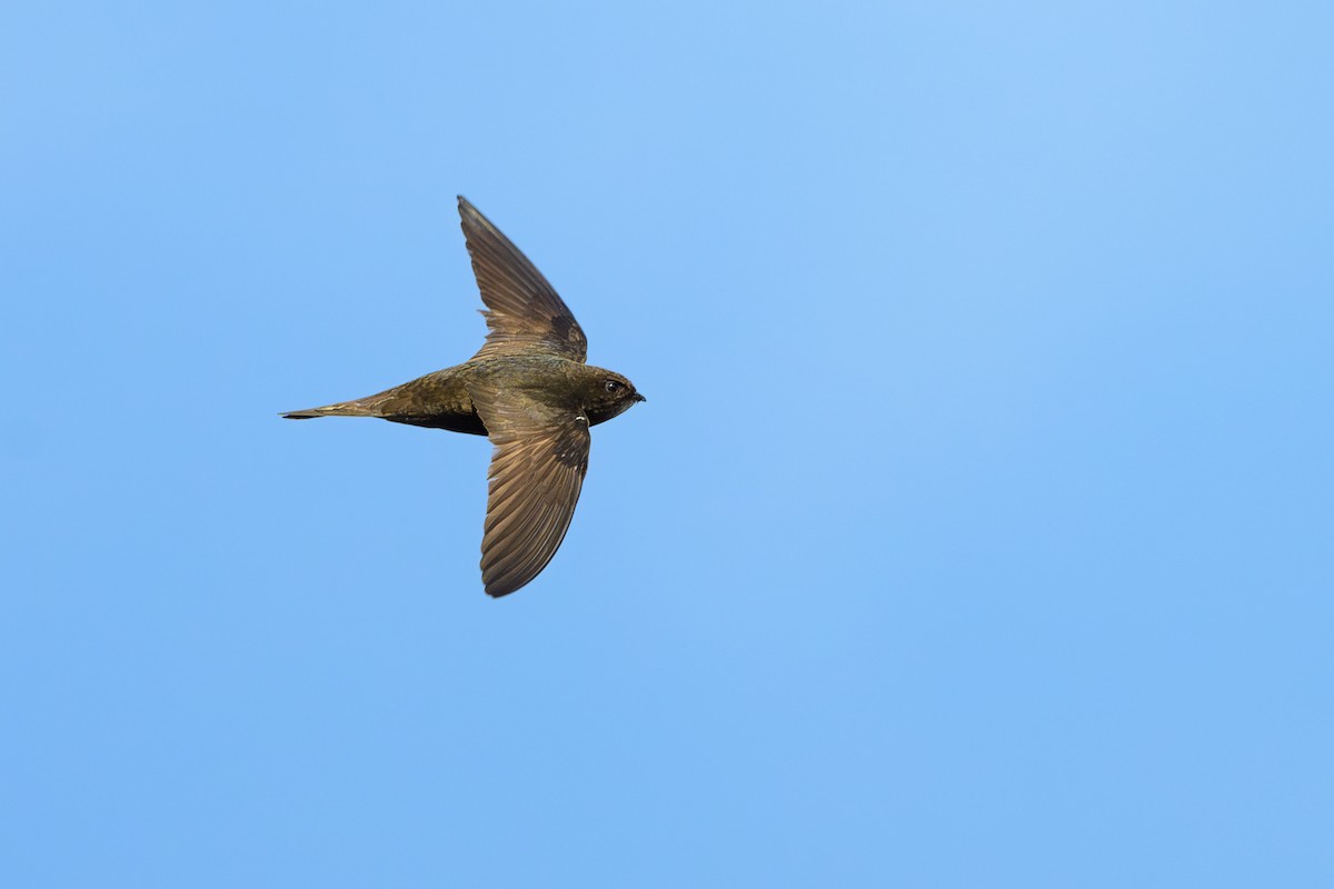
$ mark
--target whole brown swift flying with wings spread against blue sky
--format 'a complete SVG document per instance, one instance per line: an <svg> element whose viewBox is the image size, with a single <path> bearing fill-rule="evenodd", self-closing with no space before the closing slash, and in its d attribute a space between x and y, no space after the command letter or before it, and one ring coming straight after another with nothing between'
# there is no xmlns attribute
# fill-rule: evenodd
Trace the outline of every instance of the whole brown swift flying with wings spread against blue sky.
<svg viewBox="0 0 1334 889"><path fill-rule="evenodd" d="M490 437L482 582L490 596L507 596L564 540L588 470L588 428L644 396L619 373L584 363L588 340L564 301L462 195L459 216L487 307L478 353L379 395L283 416L380 417Z"/></svg>

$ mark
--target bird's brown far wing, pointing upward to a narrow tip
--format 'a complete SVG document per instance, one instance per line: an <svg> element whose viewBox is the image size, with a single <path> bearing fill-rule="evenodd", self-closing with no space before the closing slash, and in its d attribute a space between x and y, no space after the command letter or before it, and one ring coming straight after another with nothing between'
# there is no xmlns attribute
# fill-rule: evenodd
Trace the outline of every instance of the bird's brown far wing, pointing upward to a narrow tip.
<svg viewBox="0 0 1334 889"><path fill-rule="evenodd" d="M542 272L462 195L459 217L490 328L474 357L540 353L584 361L588 340Z"/></svg>

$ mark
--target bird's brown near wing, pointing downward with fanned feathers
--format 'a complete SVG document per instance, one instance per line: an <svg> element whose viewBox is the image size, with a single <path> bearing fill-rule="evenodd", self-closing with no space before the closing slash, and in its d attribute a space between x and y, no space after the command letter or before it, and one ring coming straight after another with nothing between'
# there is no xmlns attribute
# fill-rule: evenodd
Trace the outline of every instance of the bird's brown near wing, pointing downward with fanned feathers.
<svg viewBox="0 0 1334 889"><path fill-rule="evenodd" d="M495 452L482 536L482 582L506 596L538 576L556 554L588 472L588 417L498 387L472 383L468 395Z"/></svg>

